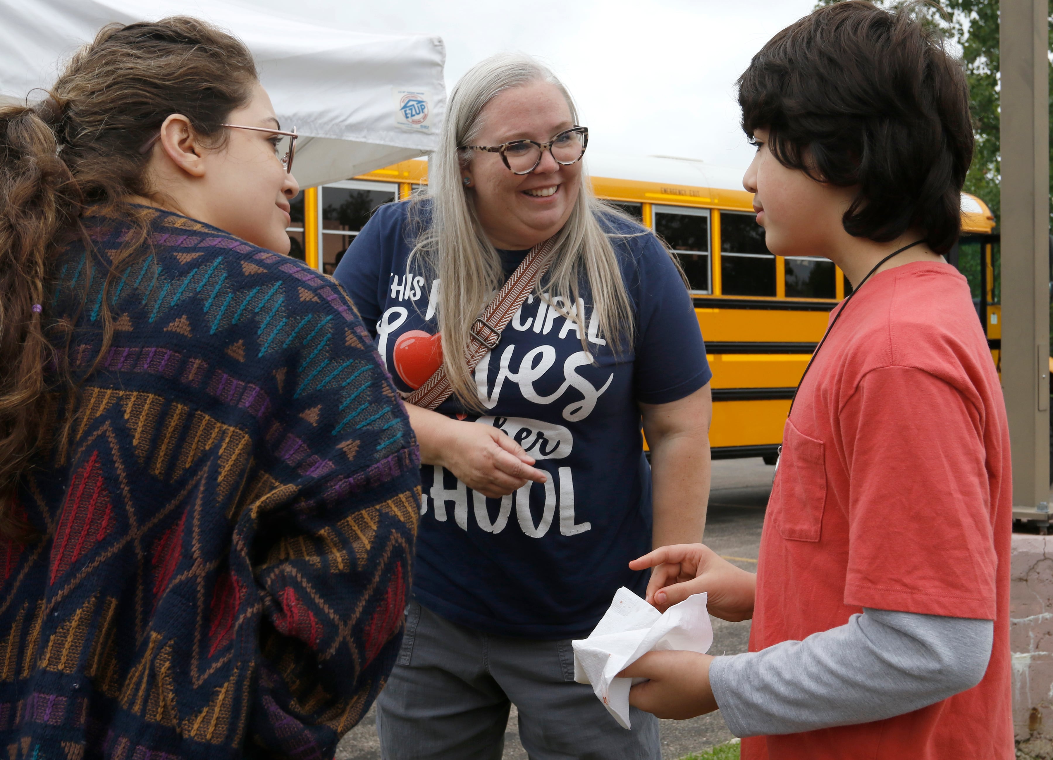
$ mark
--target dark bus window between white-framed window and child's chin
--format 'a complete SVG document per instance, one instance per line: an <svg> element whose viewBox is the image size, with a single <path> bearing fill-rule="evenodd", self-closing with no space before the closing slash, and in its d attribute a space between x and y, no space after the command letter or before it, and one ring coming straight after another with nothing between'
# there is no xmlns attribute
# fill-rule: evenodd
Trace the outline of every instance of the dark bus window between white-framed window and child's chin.
<svg viewBox="0 0 1053 760"><path fill-rule="evenodd" d="M720 280L726 296L775 295L775 256L756 214L720 212Z"/></svg>

